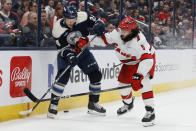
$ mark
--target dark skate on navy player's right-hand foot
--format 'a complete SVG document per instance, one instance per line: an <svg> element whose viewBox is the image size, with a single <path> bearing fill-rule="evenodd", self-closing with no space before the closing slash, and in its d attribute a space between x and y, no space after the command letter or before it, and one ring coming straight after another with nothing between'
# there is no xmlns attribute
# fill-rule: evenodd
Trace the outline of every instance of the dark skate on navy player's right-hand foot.
<svg viewBox="0 0 196 131"><path fill-rule="evenodd" d="M98 103L89 102L87 113L88 114L93 114L93 115L104 116L105 113L106 113L106 110L101 105L99 105Z"/></svg>

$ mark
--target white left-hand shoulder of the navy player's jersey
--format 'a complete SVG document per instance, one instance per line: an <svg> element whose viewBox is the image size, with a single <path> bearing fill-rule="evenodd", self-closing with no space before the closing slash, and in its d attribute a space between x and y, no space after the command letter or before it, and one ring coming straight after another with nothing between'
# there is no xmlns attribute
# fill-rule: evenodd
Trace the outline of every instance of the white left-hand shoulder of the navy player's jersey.
<svg viewBox="0 0 196 131"><path fill-rule="evenodd" d="M68 30L67 28L61 26L61 20L62 19L58 20L53 26L52 35L54 38L59 38L66 30Z"/></svg>

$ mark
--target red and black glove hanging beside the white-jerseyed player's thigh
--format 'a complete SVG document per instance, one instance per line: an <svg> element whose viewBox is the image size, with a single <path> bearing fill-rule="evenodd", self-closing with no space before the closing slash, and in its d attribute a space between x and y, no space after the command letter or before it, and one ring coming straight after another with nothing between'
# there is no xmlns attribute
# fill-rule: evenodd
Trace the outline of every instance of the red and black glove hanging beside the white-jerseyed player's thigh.
<svg viewBox="0 0 196 131"><path fill-rule="evenodd" d="M134 91L138 91L139 89L141 89L143 87L142 85L142 80L144 79L144 76L142 74L139 74L139 73L135 73L133 74L132 76L132 88Z"/></svg>

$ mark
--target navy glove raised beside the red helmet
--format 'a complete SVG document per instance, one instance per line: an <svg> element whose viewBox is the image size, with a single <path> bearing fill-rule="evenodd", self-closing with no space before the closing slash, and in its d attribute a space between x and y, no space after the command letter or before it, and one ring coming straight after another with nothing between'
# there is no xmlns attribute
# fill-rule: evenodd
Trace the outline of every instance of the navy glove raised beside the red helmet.
<svg viewBox="0 0 196 131"><path fill-rule="evenodd" d="M97 36L102 36L102 34L105 32L105 24L103 21L97 21L94 26L93 30Z"/></svg>

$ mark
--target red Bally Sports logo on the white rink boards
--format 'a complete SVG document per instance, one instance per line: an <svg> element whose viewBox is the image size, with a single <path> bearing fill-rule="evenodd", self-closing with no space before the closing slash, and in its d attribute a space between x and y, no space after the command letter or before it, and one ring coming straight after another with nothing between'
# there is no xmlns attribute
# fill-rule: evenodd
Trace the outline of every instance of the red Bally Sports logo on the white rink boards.
<svg viewBox="0 0 196 131"><path fill-rule="evenodd" d="M29 56L15 56L10 62L10 96L25 96L23 89L31 90L32 60Z"/></svg>

